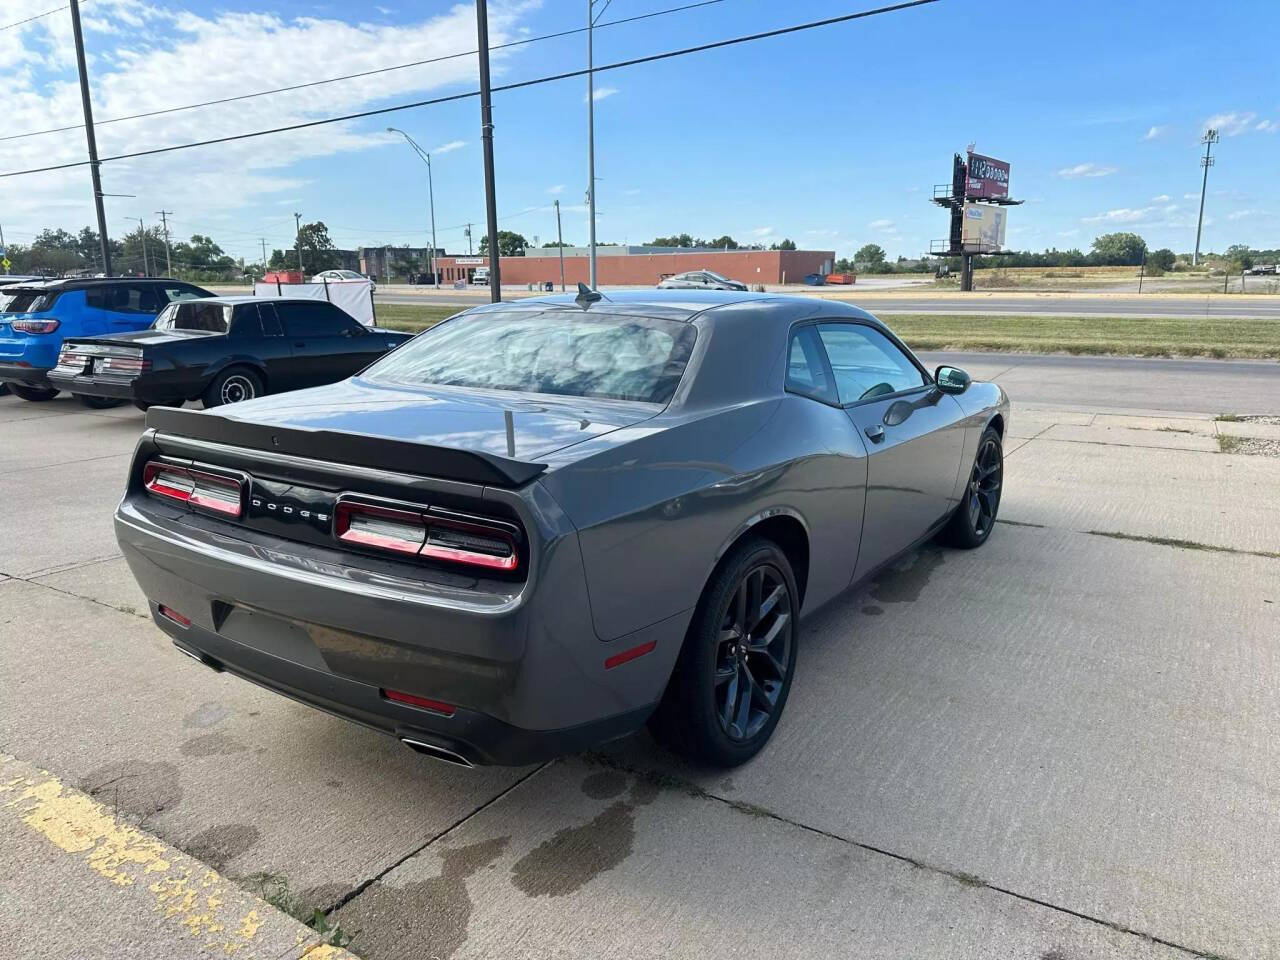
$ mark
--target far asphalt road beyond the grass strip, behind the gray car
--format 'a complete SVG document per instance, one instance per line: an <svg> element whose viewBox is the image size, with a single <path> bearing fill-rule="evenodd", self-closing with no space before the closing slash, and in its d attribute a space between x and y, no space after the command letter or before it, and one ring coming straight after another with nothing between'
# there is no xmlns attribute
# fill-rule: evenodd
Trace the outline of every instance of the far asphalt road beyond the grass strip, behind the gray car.
<svg viewBox="0 0 1280 960"><path fill-rule="evenodd" d="M608 291L605 289L605 293ZM507 291L506 296L535 296L525 291ZM1009 315L1064 315L1064 316L1239 316L1272 317L1280 320L1280 296L1270 300L1242 300L1224 296L1180 296L1170 297L1089 297L1070 293L1016 294L1016 293L973 293L968 296L895 296L891 292L868 292L860 296L850 291L823 291L822 296L838 296L865 307L872 314L892 316L893 314L974 314L991 316ZM379 291L374 300L378 303L448 303L460 310L476 303L488 303L486 291L458 291L456 293L404 293L399 291Z"/></svg>

